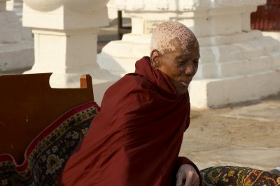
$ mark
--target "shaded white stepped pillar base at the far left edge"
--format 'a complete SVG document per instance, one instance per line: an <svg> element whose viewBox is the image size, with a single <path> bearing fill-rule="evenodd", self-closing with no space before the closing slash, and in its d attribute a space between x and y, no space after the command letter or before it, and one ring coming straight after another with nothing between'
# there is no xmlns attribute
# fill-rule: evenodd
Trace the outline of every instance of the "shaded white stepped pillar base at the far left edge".
<svg viewBox="0 0 280 186"><path fill-rule="evenodd" d="M31 40L22 38L22 25L14 12L0 0L0 72L30 68L34 63Z"/></svg>

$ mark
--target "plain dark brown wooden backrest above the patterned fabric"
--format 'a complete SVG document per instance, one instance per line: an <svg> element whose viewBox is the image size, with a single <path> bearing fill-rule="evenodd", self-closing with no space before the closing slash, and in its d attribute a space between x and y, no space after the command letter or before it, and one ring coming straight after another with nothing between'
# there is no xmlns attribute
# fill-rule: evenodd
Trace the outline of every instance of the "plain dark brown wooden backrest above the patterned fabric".
<svg viewBox="0 0 280 186"><path fill-rule="evenodd" d="M81 88L50 88L51 73L0 76L0 154L20 164L25 148L50 123L69 109L94 101L90 75Z"/></svg>

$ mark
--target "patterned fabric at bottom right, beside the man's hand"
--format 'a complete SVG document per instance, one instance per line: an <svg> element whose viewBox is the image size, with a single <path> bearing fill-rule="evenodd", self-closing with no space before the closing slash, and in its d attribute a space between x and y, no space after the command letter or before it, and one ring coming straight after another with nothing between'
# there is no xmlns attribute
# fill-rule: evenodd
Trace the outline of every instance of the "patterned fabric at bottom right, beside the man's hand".
<svg viewBox="0 0 280 186"><path fill-rule="evenodd" d="M217 166L200 171L203 185L279 186L280 176L239 166Z"/></svg>

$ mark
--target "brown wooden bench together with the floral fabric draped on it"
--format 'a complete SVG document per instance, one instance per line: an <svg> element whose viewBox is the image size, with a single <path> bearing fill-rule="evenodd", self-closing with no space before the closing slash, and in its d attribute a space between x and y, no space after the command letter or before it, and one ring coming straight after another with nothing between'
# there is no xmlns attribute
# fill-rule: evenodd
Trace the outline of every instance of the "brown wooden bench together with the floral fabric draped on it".
<svg viewBox="0 0 280 186"><path fill-rule="evenodd" d="M97 114L90 75L80 88L50 88L50 75L0 76L0 185L55 181Z"/></svg>

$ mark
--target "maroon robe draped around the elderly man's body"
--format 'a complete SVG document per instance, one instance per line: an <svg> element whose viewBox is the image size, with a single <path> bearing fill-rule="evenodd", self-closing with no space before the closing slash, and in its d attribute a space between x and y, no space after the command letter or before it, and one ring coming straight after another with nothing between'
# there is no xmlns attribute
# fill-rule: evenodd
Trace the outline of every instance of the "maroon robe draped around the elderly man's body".
<svg viewBox="0 0 280 186"><path fill-rule="evenodd" d="M188 93L177 94L144 57L135 73L104 94L101 111L66 163L62 185L176 185L179 166L193 164L178 157L189 123Z"/></svg>

